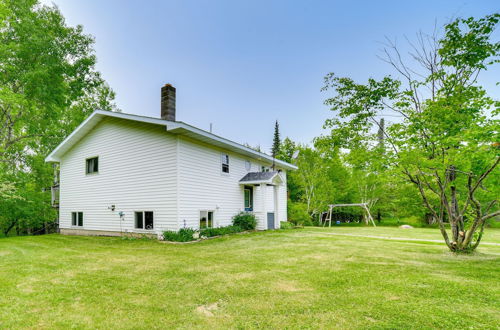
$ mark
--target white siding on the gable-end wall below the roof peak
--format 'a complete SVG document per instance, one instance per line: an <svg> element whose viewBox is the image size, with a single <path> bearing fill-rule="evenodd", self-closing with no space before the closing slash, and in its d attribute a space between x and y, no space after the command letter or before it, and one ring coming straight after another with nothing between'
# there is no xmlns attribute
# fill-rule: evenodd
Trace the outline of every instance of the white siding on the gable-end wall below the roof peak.
<svg viewBox="0 0 500 330"><path fill-rule="evenodd" d="M155 232L177 229L175 150L176 138L163 126L105 118L62 157L60 227L71 228L78 210L84 229L141 231L134 212L147 210ZM86 175L85 160L96 155L99 175Z"/></svg>

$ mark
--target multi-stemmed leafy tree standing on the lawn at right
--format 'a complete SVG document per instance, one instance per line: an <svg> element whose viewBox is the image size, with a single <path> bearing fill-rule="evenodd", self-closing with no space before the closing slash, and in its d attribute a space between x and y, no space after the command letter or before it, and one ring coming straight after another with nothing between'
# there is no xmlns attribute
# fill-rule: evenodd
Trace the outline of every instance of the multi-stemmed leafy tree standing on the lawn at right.
<svg viewBox="0 0 500 330"><path fill-rule="evenodd" d="M500 42L491 40L499 20L500 14L457 19L441 37L419 34L410 44L419 69L389 43L384 60L401 80L325 78L325 90L336 93L326 100L338 114L325 124L332 139L346 148L375 145L372 128L382 130L387 168L417 188L453 252L474 251L486 220L500 214L500 102L478 84L480 73L499 62ZM390 112L399 120L382 128L376 117Z"/></svg>

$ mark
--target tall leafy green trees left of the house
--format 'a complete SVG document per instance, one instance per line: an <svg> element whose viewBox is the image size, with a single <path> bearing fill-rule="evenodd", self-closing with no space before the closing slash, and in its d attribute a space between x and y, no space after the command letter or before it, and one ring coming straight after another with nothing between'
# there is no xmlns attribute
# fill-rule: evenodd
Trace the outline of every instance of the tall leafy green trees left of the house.
<svg viewBox="0 0 500 330"><path fill-rule="evenodd" d="M54 219L45 156L95 109L115 110L93 43L55 6L0 2L0 185L16 191L0 200L0 222Z"/></svg>

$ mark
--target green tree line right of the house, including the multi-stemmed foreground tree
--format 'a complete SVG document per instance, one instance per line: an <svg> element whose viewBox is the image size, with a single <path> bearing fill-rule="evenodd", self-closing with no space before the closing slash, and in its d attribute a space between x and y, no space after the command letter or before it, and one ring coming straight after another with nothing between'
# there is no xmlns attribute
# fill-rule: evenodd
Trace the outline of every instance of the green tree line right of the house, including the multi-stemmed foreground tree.
<svg viewBox="0 0 500 330"><path fill-rule="evenodd" d="M381 79L328 74L329 134L312 146L285 139L277 156L299 166L288 180L291 220L366 203L379 217L436 223L451 251L474 251L500 215L500 101L479 83L500 61L499 20L459 18L441 34L418 33L410 60L388 40L381 60L392 75Z"/></svg>

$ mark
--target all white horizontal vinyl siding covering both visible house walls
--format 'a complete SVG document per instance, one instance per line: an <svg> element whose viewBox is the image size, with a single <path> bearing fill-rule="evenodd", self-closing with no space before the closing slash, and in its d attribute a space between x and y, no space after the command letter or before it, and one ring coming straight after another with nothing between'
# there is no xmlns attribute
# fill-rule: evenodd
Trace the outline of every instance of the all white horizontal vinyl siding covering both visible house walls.
<svg viewBox="0 0 500 330"><path fill-rule="evenodd" d="M229 173L221 171L221 154L229 156ZM87 175L86 159L96 156L98 175ZM161 125L106 117L61 159L60 228L74 228L71 212L75 211L84 212L85 230L161 233L198 228L200 211L213 211L214 227L227 226L244 210L244 186L239 180L263 165L271 164L174 135ZM286 179L285 171L281 176ZM258 228L266 229L260 189L253 187L253 212ZM266 212L274 211L273 189L266 187ZM139 211L153 212L153 230L136 228ZM285 220L282 185L277 226Z"/></svg>

